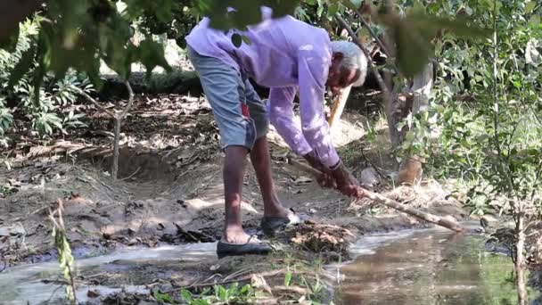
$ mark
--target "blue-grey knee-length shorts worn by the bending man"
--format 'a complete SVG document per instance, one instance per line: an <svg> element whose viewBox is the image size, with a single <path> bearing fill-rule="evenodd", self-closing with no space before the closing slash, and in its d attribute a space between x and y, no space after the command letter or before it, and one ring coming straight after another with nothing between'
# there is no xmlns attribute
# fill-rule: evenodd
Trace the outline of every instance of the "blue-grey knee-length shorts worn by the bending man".
<svg viewBox="0 0 542 305"><path fill-rule="evenodd" d="M237 145L251 150L257 139L267 135L266 104L239 71L217 58L198 54L190 46L187 49L220 129L222 147Z"/></svg>

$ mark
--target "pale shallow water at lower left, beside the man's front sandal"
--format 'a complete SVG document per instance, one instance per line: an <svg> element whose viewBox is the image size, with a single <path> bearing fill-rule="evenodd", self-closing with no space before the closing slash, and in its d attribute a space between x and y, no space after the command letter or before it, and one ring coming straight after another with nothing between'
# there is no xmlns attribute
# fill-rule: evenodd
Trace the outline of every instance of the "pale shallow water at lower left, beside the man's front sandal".
<svg viewBox="0 0 542 305"><path fill-rule="evenodd" d="M76 260L76 274L83 279L78 282L92 283L94 278L100 278L100 282L105 283L80 284L78 300L86 301L89 289L101 295L123 289L126 292L147 293L148 290L141 284L148 281L148 278L139 281L136 276L142 276L144 272L137 270L140 272L130 274L130 270L152 265L153 276L162 272L167 277L171 276L169 270L180 264L216 260L215 251L216 243L194 243L153 249L127 248L104 256ZM62 280L62 276L56 261L10 268L0 273L0 304L56 303L65 296L63 287L54 283L58 280Z"/></svg>

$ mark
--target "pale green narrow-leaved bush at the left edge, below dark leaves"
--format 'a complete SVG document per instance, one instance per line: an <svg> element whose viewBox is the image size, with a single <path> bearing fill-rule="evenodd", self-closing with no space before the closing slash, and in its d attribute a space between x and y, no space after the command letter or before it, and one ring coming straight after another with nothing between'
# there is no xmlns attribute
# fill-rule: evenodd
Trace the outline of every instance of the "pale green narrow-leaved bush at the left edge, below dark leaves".
<svg viewBox="0 0 542 305"><path fill-rule="evenodd" d="M68 116L62 118L60 111L76 101L78 95L73 87L80 87L86 92L93 90L87 79L70 73L55 81L52 76L45 75L42 87L36 90L33 86L31 74L37 62L29 54L36 51L32 41L38 33L36 21L25 21L21 24L20 37L13 52L10 54L0 50L0 137L7 133L13 123L13 109L7 107L7 100L18 101L18 106L28 114L31 128L40 135L51 135L56 129L66 132L66 128L84 126L80 121L82 114L70 111ZM4 141L4 145L7 142Z"/></svg>

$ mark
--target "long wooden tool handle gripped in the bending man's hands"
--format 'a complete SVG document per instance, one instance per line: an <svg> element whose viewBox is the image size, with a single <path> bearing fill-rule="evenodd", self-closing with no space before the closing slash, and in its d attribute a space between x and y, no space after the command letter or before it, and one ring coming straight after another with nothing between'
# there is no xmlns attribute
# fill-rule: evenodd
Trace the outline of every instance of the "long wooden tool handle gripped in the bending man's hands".
<svg viewBox="0 0 542 305"><path fill-rule="evenodd" d="M303 164L299 161L295 161L292 158L288 158L288 164L291 164L295 168L300 169L301 171L309 175L312 175L314 177L320 177L322 175L322 173L319 170L313 169L307 164ZM427 213L421 210L416 210L412 207L409 207L407 205L391 200L390 198L386 198L382 196L381 194L376 194L365 189L363 190L363 194L365 197L369 198L370 200L374 202L381 203L395 210L400 210L408 215L414 216L415 218L423 219L435 225L439 225L440 227L446 227L456 232L463 232L464 230L464 228L461 227L461 225L459 225L456 219L454 218L442 218L442 217L433 215L431 213Z"/></svg>

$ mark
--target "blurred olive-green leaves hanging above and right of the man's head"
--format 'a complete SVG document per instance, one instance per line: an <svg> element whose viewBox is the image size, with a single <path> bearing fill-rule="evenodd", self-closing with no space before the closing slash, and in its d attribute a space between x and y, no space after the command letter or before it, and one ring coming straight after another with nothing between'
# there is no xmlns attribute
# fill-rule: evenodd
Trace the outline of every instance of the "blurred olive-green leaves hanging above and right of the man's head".
<svg viewBox="0 0 542 305"><path fill-rule="evenodd" d="M333 37L339 34L334 21L335 13L339 12L362 41L372 41L373 37L357 17L360 4L360 1L349 0L306 0L296 10L296 15L301 20L323 26ZM375 12L370 17L374 22L370 26L376 35L387 34L390 45L395 49L395 58L390 62L397 62L400 72L406 77L415 76L429 62L434 55L431 40L440 30L467 38L489 37L490 34L488 29L474 25L472 19L465 16L428 14L421 1L403 1L398 4L398 12L387 10L383 2L380 8L373 10Z"/></svg>

